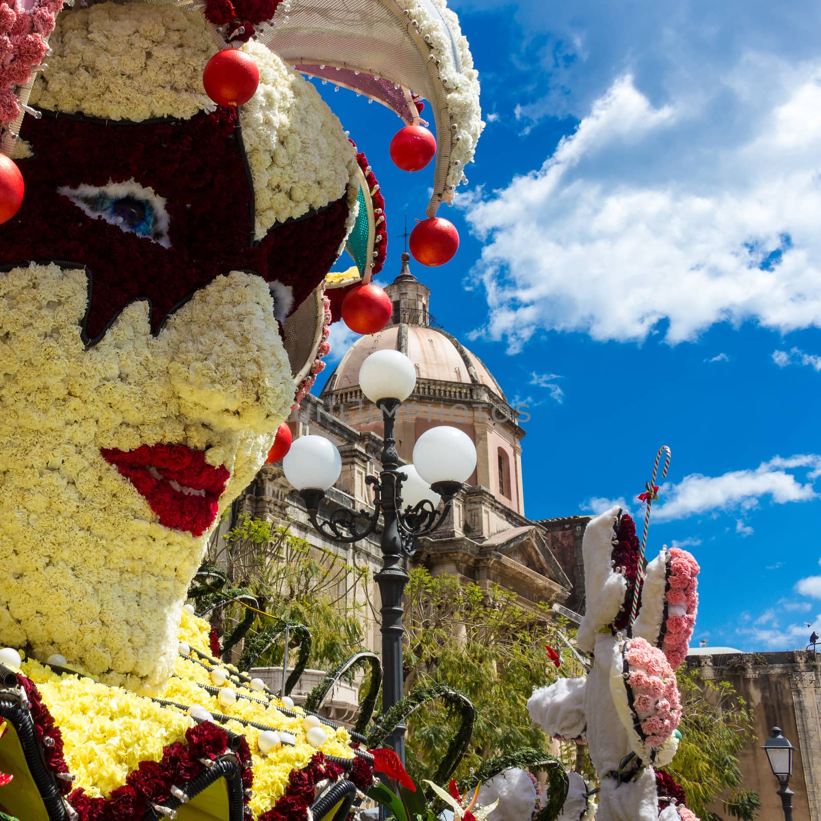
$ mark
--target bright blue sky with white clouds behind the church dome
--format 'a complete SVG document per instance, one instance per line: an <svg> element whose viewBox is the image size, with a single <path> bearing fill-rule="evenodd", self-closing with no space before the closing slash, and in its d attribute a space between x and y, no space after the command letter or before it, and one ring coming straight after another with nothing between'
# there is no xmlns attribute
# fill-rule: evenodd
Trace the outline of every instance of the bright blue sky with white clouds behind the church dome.
<svg viewBox="0 0 821 821"><path fill-rule="evenodd" d="M821 7L451 4L488 126L440 212L459 253L414 271L530 406L527 515L642 516L667 444L648 553L701 564L695 640L803 647L821 632ZM393 167L387 109L323 92L382 185L385 284L429 171Z"/></svg>

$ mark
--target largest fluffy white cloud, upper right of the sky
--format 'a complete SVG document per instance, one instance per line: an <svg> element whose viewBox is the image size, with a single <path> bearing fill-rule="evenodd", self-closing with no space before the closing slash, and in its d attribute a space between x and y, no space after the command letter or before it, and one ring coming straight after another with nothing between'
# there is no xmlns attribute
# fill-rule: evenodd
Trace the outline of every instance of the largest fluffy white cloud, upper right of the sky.
<svg viewBox="0 0 821 821"><path fill-rule="evenodd" d="M618 76L541 167L466 209L484 335L513 353L545 330L821 326L821 63L745 53L711 84L653 103Z"/></svg>

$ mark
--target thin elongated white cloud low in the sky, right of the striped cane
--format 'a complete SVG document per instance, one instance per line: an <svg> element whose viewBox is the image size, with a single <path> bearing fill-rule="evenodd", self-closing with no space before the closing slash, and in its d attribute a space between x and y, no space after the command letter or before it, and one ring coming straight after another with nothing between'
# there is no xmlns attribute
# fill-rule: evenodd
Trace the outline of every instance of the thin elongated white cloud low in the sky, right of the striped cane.
<svg viewBox="0 0 821 821"><path fill-rule="evenodd" d="M810 481L802 482L796 477L794 471L800 468L810 468ZM809 454L788 459L775 456L752 470L732 470L720 476L690 474L679 484L662 486L659 496L663 502L658 507L654 505L654 519L671 521L710 511L749 510L762 498L776 504L807 502L819 496L811 481L819 470L821 456ZM737 533L747 535L747 530L741 520L736 521Z"/></svg>

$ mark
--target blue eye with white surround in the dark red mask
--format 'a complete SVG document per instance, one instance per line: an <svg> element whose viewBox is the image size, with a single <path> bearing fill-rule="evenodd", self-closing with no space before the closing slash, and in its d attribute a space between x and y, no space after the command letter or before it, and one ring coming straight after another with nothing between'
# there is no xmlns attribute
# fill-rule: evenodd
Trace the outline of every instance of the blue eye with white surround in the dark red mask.
<svg viewBox="0 0 821 821"><path fill-rule="evenodd" d="M63 186L57 193L68 197L89 217L104 219L126 233L144 236L170 248L165 200L154 189L145 188L133 177L126 182L108 181L107 186Z"/></svg>

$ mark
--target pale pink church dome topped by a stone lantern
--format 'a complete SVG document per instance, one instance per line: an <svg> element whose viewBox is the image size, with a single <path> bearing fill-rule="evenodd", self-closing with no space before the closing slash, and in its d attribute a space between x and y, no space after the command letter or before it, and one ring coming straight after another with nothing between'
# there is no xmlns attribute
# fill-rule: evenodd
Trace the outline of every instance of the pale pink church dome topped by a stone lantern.
<svg viewBox="0 0 821 821"><path fill-rule="evenodd" d="M428 311L430 291L410 273L409 259L408 255L402 255L401 273L385 289L393 304L391 323L383 331L354 342L328 378L322 395L358 387L359 371L365 358L374 351L392 349L401 351L410 359L417 379L484 385L507 402L499 383L479 357L451 334L434 327Z"/></svg>

